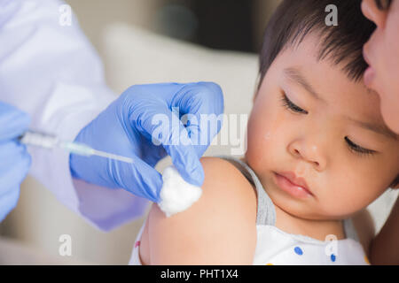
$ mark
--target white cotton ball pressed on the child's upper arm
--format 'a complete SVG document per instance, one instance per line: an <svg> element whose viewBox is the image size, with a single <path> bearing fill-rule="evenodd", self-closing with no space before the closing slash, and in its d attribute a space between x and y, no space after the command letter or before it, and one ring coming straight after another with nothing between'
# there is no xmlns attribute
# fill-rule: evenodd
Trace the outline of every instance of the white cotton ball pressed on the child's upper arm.
<svg viewBox="0 0 399 283"><path fill-rule="evenodd" d="M186 182L173 164L164 170L162 180L158 206L167 217L187 210L200 199L201 187Z"/></svg>

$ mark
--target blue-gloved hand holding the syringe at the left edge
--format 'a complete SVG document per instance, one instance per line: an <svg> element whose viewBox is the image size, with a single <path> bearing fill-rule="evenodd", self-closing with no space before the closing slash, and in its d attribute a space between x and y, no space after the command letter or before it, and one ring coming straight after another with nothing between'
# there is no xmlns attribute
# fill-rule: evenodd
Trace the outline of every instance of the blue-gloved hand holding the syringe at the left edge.
<svg viewBox="0 0 399 283"><path fill-rule="evenodd" d="M18 203L20 183L31 164L26 146L17 141L29 122L25 112L0 102L0 221Z"/></svg>

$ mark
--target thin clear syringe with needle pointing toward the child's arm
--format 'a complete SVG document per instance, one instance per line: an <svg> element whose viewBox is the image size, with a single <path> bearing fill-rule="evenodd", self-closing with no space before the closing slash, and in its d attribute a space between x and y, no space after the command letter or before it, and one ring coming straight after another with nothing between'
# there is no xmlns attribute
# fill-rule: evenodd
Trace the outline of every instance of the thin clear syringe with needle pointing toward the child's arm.
<svg viewBox="0 0 399 283"><path fill-rule="evenodd" d="M43 134L33 131L27 131L25 134L22 134L19 137L19 140L21 143L24 143L26 145L32 145L44 149L59 148L59 149L65 149L70 153L78 154L81 156L106 157L114 160L119 160L122 162L133 163L133 159L130 157L122 157L106 151L92 149L89 146L79 142L60 141L57 136L51 134Z"/></svg>

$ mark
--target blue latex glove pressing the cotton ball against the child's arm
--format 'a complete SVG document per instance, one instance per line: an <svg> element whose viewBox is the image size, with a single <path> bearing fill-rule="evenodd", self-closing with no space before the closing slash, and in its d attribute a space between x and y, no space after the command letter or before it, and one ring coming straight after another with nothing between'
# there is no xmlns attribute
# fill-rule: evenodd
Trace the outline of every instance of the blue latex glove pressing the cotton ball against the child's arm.
<svg viewBox="0 0 399 283"><path fill-rule="evenodd" d="M173 107L178 107L179 113L172 112ZM178 116L181 117L185 113L195 115L198 123L184 125ZM71 155L71 173L75 178L103 187L122 187L134 195L159 203L162 178L153 167L161 158L169 155L184 180L201 186L204 172L200 157L215 134L220 131L221 123L217 123L214 131L208 126L206 144L201 145L200 142L193 141L201 141L200 115L211 113L216 116L223 113L222 89L215 83L132 86L85 126L75 138L75 142L131 157L134 163ZM175 115L175 121L177 118L178 123L173 123L174 127L172 122L169 126L165 126L165 123L153 125L153 116L157 114L166 115L168 121L172 121L172 115ZM155 145L152 134L154 131L160 132L160 124L164 125L161 131L163 134L157 134L156 141L161 144ZM194 145L187 145L185 142L173 145L172 141L176 135L171 133L177 133L176 131L186 138L185 141L191 139L190 142Z"/></svg>

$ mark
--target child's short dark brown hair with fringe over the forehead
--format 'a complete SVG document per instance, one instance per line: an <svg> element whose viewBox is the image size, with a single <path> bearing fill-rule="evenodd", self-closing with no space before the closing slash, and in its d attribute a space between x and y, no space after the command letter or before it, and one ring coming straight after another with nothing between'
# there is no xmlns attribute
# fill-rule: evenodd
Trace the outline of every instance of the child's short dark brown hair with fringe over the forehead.
<svg viewBox="0 0 399 283"><path fill-rule="evenodd" d="M264 32L259 64L258 89L278 53L299 45L306 35L320 38L318 60L330 59L342 65L350 80L362 80L367 63L363 46L376 28L361 10L362 0L283 0ZM338 26L327 26L327 5L337 7ZM389 187L399 184L399 174Z"/></svg>

